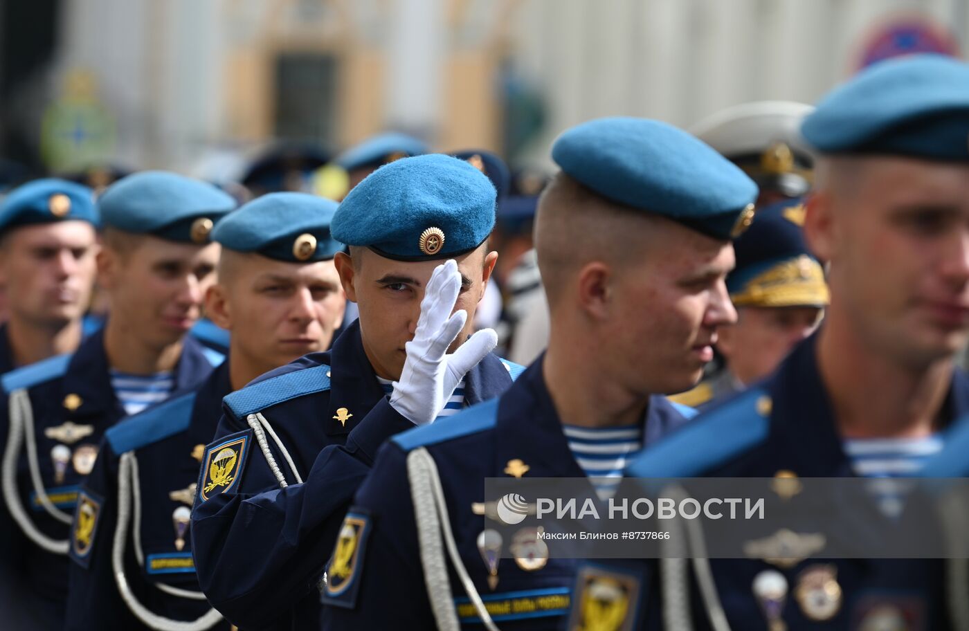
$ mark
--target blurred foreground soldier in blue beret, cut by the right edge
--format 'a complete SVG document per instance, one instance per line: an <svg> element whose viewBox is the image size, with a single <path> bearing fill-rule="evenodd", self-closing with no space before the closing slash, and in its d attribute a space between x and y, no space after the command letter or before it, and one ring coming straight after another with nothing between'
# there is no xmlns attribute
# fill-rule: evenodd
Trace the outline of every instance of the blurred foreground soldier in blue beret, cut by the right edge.
<svg viewBox="0 0 969 631"><path fill-rule="evenodd" d="M953 365L969 339L969 66L881 62L828 94L801 131L821 154L804 234L829 266L825 321L766 381L648 450L630 475L964 475L947 464L957 447L965 461L964 439L951 440L969 432L969 380ZM655 583L678 625L667 628L965 628L969 599L944 561L822 560L805 541L761 542L762 560L697 559L692 574L715 587L703 591L686 567L663 564Z"/></svg>

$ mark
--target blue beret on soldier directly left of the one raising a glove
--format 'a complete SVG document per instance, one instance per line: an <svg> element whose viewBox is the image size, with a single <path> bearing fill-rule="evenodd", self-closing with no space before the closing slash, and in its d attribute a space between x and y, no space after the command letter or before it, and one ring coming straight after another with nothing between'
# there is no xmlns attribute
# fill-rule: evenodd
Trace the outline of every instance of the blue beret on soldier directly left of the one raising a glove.
<svg viewBox="0 0 969 631"><path fill-rule="evenodd" d="M226 215L212 240L236 252L305 263L332 259L343 243L329 235L336 202L308 193L269 193Z"/></svg>

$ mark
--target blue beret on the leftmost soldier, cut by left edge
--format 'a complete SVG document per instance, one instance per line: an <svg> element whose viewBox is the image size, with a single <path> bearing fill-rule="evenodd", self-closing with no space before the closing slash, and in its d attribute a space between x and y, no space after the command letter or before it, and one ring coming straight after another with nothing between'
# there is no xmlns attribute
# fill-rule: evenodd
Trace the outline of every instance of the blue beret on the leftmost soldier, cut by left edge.
<svg viewBox="0 0 969 631"><path fill-rule="evenodd" d="M12 190L0 204L0 231L65 219L99 225L94 191L66 179L35 179Z"/></svg>

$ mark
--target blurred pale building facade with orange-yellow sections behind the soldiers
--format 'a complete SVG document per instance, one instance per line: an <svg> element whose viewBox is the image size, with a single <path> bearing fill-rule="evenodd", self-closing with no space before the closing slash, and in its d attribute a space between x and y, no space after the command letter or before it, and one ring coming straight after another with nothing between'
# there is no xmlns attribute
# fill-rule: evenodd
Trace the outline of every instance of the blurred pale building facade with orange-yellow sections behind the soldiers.
<svg viewBox="0 0 969 631"><path fill-rule="evenodd" d="M50 63L14 86L6 120L48 162L229 170L218 156L272 139L339 149L393 127L543 164L595 116L689 126L745 101L812 102L872 51L912 45L899 24L958 54L967 4L60 0Z"/></svg>

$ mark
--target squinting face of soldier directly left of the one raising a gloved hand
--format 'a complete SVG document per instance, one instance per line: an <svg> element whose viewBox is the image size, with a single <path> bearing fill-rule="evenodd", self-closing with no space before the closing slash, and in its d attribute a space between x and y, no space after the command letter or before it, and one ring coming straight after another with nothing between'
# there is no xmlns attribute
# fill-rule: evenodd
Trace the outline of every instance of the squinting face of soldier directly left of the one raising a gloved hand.
<svg viewBox="0 0 969 631"><path fill-rule="evenodd" d="M222 256L206 313L232 331L233 354L265 371L328 349L346 309L332 261L287 263L228 250Z"/></svg>

